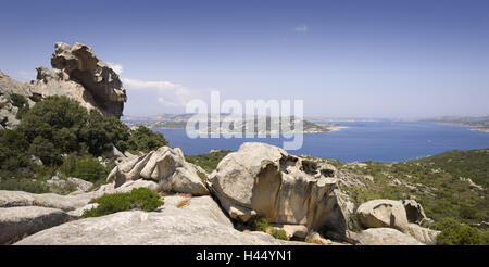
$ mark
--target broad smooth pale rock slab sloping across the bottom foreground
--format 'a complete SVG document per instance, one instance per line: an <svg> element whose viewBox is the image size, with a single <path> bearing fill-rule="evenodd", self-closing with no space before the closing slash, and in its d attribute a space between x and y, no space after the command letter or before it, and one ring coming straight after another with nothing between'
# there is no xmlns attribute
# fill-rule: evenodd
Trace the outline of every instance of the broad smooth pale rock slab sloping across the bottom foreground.
<svg viewBox="0 0 489 267"><path fill-rule="evenodd" d="M187 205L179 205L181 201ZM121 212L57 226L16 245L278 245L299 244L264 232L240 232L211 196L165 196L160 211Z"/></svg>

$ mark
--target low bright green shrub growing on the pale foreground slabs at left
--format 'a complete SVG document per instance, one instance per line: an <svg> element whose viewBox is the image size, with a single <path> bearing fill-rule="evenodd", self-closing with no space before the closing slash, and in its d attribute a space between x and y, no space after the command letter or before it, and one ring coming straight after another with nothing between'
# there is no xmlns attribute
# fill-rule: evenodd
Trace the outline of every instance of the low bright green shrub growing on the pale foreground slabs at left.
<svg viewBox="0 0 489 267"><path fill-rule="evenodd" d="M128 193L105 194L91 200L90 203L98 203L99 206L85 211L83 218L100 217L135 208L151 212L164 204L160 195L148 188L135 188Z"/></svg>

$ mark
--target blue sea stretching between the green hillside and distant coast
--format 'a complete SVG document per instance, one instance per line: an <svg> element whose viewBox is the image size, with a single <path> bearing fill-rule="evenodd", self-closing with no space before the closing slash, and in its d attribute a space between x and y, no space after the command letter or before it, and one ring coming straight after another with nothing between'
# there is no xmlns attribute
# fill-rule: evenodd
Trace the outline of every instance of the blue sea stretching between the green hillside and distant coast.
<svg viewBox="0 0 489 267"><path fill-rule="evenodd" d="M468 127L431 123L401 123L391 120L337 123L348 126L334 132L305 134L297 155L335 158L342 162L400 162L425 157L449 150L489 148L489 134ZM283 145L283 139L190 139L185 129L153 129L163 132L170 144L186 155L209 153L210 150L236 151L243 142L266 142Z"/></svg>

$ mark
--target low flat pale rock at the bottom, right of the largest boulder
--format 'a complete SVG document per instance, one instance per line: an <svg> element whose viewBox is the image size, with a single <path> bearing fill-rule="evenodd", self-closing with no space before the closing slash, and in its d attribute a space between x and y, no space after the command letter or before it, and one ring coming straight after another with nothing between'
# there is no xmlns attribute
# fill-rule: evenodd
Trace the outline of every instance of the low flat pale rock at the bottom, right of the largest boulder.
<svg viewBox="0 0 489 267"><path fill-rule="evenodd" d="M413 237L392 228L371 228L350 232L350 238L363 245L423 245Z"/></svg>

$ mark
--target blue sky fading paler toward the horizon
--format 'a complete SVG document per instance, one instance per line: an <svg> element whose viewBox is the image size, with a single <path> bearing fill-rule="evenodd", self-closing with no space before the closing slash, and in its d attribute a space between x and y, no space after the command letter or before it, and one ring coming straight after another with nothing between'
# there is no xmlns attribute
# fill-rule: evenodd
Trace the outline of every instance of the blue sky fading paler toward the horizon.
<svg viewBox="0 0 489 267"><path fill-rule="evenodd" d="M125 115L302 99L309 116L489 114L489 1L5 1L0 69L35 78L53 43L121 72Z"/></svg>

